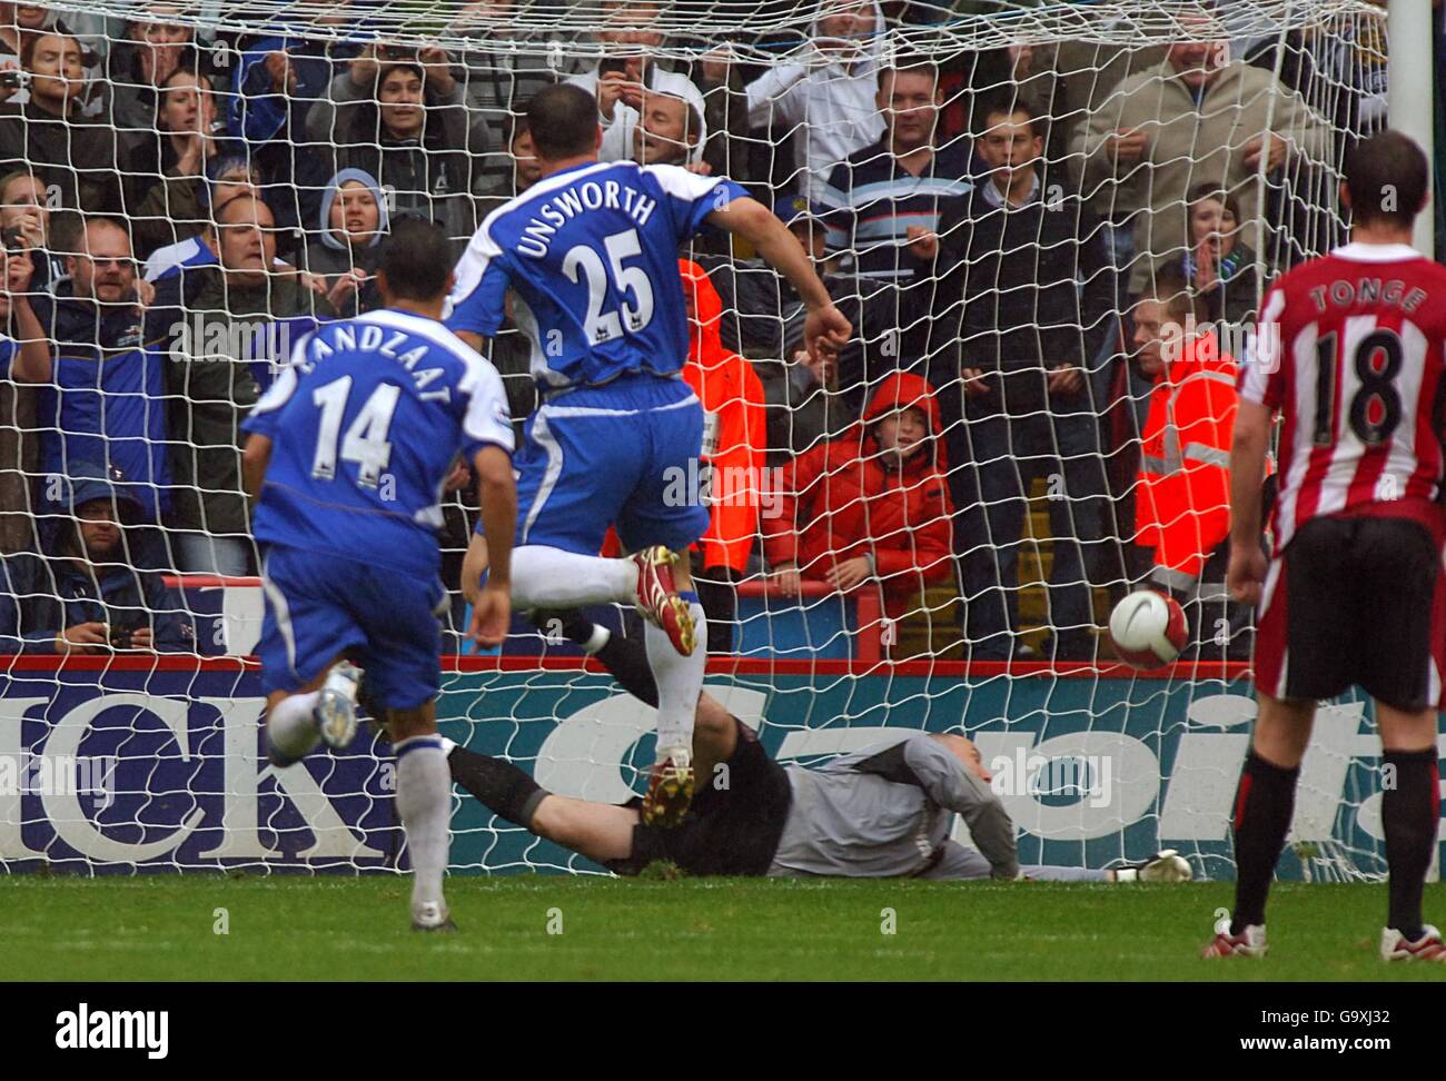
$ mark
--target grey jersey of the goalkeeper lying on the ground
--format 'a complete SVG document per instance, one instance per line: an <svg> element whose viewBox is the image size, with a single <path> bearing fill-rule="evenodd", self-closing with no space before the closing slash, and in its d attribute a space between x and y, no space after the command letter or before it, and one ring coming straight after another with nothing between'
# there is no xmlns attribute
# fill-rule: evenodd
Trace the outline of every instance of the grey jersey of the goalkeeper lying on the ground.
<svg viewBox="0 0 1446 1081"><path fill-rule="evenodd" d="M794 799L769 874L1014 879L1019 873L1014 822L999 796L925 733L821 767L787 770ZM947 840L956 812L977 853Z"/></svg>

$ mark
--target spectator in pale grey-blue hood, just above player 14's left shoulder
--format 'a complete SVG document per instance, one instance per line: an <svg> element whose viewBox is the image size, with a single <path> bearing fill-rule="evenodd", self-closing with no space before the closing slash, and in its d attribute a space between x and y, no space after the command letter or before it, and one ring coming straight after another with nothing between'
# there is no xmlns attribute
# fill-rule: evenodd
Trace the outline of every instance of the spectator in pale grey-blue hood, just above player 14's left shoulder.
<svg viewBox="0 0 1446 1081"><path fill-rule="evenodd" d="M321 199L321 223L307 249L307 269L324 279L327 301L343 318L382 306L376 267L390 228L386 197L370 173L343 169Z"/></svg>

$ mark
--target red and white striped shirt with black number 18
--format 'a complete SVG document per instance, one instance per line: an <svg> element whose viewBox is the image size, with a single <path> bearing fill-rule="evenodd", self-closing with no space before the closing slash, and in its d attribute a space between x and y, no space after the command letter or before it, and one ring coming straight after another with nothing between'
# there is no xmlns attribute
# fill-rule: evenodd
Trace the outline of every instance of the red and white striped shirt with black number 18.
<svg viewBox="0 0 1446 1081"><path fill-rule="evenodd" d="M1241 397L1283 418L1275 552L1325 514L1407 517L1442 536L1446 267L1346 244L1265 293Z"/></svg>

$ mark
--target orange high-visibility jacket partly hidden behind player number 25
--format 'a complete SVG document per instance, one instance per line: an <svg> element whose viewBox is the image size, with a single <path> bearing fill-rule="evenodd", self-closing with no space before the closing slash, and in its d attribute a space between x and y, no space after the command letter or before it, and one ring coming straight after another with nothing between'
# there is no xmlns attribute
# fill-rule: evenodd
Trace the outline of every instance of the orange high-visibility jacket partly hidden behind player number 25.
<svg viewBox="0 0 1446 1081"><path fill-rule="evenodd" d="M768 413L763 383L753 366L723 348L723 301L701 266L678 260L691 305L688 363L683 379L703 403L703 458L711 470L709 530L698 545L703 567L748 571L758 538Z"/></svg>

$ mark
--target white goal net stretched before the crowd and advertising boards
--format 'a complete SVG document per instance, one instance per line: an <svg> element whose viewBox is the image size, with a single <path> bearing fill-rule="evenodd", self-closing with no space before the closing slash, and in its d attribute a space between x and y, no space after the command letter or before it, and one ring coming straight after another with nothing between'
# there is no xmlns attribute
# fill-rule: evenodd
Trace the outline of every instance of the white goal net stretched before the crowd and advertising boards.
<svg viewBox="0 0 1446 1081"><path fill-rule="evenodd" d="M526 101L571 79L604 158L774 207L853 325L814 363L756 253L680 253L709 692L801 765L969 734L1022 863L1229 876L1233 413L1183 387L1345 238L1387 51L1365 0L0 4L0 867L405 866L383 741L260 754L239 425L296 335L380 305L389 223L460 253L536 179ZM531 353L490 343L519 421ZM98 540L97 501L124 519ZM652 714L560 623L454 656L474 520L450 490L444 734L626 801ZM1150 673L1103 633L1142 584L1190 620ZM1362 702L1323 711L1283 874L1384 871L1377 751ZM469 799L453 866L600 871Z"/></svg>

